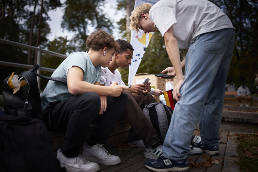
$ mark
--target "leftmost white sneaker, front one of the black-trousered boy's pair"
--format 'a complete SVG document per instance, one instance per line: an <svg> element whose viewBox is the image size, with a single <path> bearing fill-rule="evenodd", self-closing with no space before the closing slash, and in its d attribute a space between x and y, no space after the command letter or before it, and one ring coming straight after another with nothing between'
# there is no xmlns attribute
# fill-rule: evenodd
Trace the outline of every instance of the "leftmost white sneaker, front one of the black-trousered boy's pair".
<svg viewBox="0 0 258 172"><path fill-rule="evenodd" d="M60 161L60 166L65 167L70 172L96 172L99 171L99 165L97 163L89 162L81 154L75 158L65 157L61 149L57 150L56 158Z"/></svg>

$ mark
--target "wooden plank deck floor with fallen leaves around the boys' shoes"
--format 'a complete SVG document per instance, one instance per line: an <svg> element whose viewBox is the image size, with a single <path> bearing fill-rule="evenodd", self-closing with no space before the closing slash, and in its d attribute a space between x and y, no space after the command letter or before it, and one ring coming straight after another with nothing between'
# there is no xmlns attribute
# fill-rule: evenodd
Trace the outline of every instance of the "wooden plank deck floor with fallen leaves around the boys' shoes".
<svg viewBox="0 0 258 172"><path fill-rule="evenodd" d="M196 130L197 132L197 130ZM196 134L198 135L198 134ZM200 134L199 134L200 135ZM222 169L222 162L224 159L224 152L226 148L227 142L227 135L228 132L221 132L220 134L220 155L219 156L211 156L206 153L202 153L201 155L189 155L189 165L190 165L190 172L201 172L201 171L221 171ZM101 172L150 172L151 170L147 169L144 166L144 149L143 147L132 147L126 143L121 144L121 146L114 146L111 149L108 149L109 153L112 155L119 156L121 159L121 163L114 166L108 165L100 165ZM209 161L216 161L219 163L211 164ZM207 163L208 162L208 163ZM205 166L209 166L207 169Z"/></svg>

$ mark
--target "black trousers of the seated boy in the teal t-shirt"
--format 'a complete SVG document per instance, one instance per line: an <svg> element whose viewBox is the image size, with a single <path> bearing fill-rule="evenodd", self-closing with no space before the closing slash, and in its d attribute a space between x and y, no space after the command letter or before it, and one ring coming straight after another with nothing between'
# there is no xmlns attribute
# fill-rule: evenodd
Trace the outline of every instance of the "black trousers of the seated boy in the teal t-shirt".
<svg viewBox="0 0 258 172"><path fill-rule="evenodd" d="M66 157L77 157L89 125L97 122L88 144L104 144L127 106L127 95L107 96L107 110L99 115L100 97L87 92L53 103L43 112L49 130L66 131L61 151Z"/></svg>

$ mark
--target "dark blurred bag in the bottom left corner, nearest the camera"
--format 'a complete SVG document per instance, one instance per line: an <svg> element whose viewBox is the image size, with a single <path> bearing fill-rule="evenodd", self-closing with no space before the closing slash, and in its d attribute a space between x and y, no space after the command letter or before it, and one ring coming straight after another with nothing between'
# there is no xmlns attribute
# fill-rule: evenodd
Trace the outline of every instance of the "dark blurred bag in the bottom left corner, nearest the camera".
<svg viewBox="0 0 258 172"><path fill-rule="evenodd" d="M0 171L66 171L56 159L42 120L0 115Z"/></svg>

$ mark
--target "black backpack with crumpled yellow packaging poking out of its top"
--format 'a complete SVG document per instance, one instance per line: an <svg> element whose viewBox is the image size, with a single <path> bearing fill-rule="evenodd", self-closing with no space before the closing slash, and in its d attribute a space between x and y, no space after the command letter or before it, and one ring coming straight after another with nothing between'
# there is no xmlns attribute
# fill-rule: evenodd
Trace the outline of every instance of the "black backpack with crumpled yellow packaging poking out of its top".
<svg viewBox="0 0 258 172"><path fill-rule="evenodd" d="M22 86L17 93L13 94L13 90L9 87L7 81L9 77L3 80L2 93L4 98L4 112L6 114L12 114L16 116L30 116L36 118L42 118L40 114L40 92L38 89L38 81L36 78L40 76L45 79L60 81L67 84L67 80L64 78L47 77L34 73L39 68L38 64L35 64L32 69L24 71L19 75L19 78L24 78L28 84Z"/></svg>

